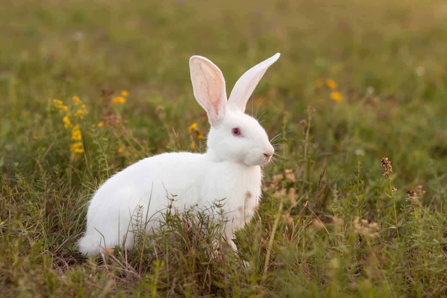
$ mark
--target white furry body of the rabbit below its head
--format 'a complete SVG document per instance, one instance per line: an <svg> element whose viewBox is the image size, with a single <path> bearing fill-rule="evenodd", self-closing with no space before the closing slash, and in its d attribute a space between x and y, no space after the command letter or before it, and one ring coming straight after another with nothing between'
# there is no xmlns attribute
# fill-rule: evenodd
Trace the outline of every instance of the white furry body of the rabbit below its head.
<svg viewBox="0 0 447 298"><path fill-rule="evenodd" d="M148 214L147 229L156 228L170 203L182 212L191 206L206 209L222 200L228 218L225 234L231 238L252 218L260 195L259 165L219 162L210 154L188 152L149 157L118 172L95 193L80 252L95 255L100 246L114 248L123 243L132 248L135 226L141 221L144 225ZM137 218L139 206L143 218Z"/></svg>

